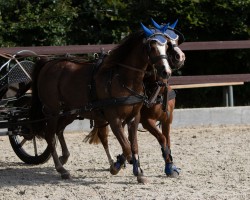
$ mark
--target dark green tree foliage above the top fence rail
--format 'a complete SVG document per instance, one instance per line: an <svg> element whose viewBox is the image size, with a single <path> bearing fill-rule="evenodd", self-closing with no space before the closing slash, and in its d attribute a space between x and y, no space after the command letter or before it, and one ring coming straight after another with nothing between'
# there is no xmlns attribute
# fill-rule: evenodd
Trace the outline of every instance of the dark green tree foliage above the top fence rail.
<svg viewBox="0 0 250 200"><path fill-rule="evenodd" d="M0 0L1 46L116 43L153 17L187 41L248 39L250 0Z"/></svg>

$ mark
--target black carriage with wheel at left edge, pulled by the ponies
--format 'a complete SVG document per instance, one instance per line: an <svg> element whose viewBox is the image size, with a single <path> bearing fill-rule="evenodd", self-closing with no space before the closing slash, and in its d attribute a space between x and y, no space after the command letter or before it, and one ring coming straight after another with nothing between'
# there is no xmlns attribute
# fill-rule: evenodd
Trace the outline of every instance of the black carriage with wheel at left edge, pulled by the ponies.
<svg viewBox="0 0 250 200"><path fill-rule="evenodd" d="M27 164L42 164L50 158L44 140L30 133L30 83L36 53L22 50L2 54L0 67L0 136L8 136L16 155Z"/></svg>

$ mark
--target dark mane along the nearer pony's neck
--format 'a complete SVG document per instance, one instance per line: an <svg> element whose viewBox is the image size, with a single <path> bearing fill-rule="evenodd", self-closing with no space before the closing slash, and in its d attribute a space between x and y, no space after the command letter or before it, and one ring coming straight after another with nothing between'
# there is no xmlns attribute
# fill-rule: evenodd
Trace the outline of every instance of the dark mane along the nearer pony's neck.
<svg viewBox="0 0 250 200"><path fill-rule="evenodd" d="M110 52L110 55L106 58L104 68L110 68L113 67L115 63L121 63L130 54L131 49L137 46L138 43L142 43L143 38L143 31L137 31L125 37L118 46Z"/></svg>

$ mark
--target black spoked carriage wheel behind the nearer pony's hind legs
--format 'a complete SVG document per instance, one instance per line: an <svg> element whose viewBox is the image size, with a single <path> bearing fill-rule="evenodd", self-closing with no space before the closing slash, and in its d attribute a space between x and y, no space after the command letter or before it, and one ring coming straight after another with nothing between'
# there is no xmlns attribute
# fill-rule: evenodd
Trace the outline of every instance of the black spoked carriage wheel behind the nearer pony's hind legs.
<svg viewBox="0 0 250 200"><path fill-rule="evenodd" d="M44 139L33 137L25 139L23 136L9 136L10 144L16 155L26 164L42 164L47 162L50 157L50 151Z"/></svg>

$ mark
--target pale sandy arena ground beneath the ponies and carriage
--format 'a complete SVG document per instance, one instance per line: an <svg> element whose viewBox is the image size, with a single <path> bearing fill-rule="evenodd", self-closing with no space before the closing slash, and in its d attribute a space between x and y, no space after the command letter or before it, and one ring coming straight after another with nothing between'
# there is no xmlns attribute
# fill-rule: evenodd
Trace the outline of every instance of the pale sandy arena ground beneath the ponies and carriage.
<svg viewBox="0 0 250 200"><path fill-rule="evenodd" d="M71 152L65 167L72 180L61 180L52 159L37 166L24 164L7 137L0 138L0 199L250 199L250 125L192 127L172 130L172 155L181 168L178 178L164 175L164 161L156 139L139 132L141 166L149 181L138 184L132 166L109 173L101 145L82 140L87 133L66 133ZM110 133L114 154L121 149Z"/></svg>

